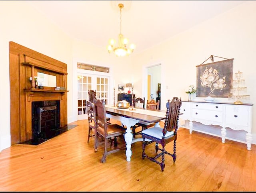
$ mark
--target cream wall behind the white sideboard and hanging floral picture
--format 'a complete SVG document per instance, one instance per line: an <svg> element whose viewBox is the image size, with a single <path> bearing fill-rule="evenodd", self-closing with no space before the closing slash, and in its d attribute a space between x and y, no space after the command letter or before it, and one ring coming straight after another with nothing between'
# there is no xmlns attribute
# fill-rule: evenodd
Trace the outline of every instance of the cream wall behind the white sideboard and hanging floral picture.
<svg viewBox="0 0 256 193"><path fill-rule="evenodd" d="M188 99L185 89L189 85L196 85L196 65L200 65L210 55L234 58L233 72L243 72L247 94L250 95L249 102L254 104L252 134L253 142L256 143L255 10L256 1L245 2L134 57L134 66L141 71L161 61L161 106L174 96ZM139 81L143 85L142 78Z"/></svg>

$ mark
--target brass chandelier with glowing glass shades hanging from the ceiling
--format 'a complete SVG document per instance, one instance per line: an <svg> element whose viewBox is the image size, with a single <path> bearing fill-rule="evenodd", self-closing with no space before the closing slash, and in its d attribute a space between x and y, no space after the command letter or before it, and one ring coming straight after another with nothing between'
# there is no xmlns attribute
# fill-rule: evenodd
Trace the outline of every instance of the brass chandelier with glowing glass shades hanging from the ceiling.
<svg viewBox="0 0 256 193"><path fill-rule="evenodd" d="M114 53L117 56L125 56L132 53L135 49L135 45L131 44L130 48L127 47L128 39L124 38L124 35L121 33L122 28L122 8L124 7L124 4L118 4L118 7L120 8L120 34L118 35L118 45L117 47L114 47L115 40L110 39L110 44L108 45L108 53L114 51Z"/></svg>

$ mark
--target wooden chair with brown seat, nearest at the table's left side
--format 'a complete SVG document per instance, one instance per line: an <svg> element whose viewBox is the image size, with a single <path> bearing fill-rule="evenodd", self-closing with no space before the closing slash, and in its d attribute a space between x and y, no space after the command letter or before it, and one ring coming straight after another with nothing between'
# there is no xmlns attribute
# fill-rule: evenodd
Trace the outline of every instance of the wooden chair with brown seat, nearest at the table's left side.
<svg viewBox="0 0 256 193"><path fill-rule="evenodd" d="M124 140L124 134L126 133L126 128L118 125L118 124L107 124L106 121L106 107L105 107L105 101L104 100L96 100L95 101L95 111L96 111L96 134L95 134L95 150L97 151L98 148L98 134L105 138L105 145L104 145L104 152L102 159L100 160L101 163L106 162L106 156L108 154L117 152L121 149L126 148L126 144L121 144L120 147L118 147L118 143L116 140L116 137L120 137L122 140ZM110 143L110 147L108 147L108 142L111 141L109 139L114 138L114 147L111 147L112 142Z"/></svg>

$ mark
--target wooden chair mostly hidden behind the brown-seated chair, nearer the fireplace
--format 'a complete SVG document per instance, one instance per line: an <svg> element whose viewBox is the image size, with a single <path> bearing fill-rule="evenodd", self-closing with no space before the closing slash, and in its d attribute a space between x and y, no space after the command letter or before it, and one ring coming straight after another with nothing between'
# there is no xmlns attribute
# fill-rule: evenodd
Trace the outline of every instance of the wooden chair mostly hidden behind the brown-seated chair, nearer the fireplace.
<svg viewBox="0 0 256 193"><path fill-rule="evenodd" d="M95 138L96 134L96 117L95 117L95 106L94 103L90 101L86 101L86 110L88 116L88 139L87 143L89 143L90 137Z"/></svg>

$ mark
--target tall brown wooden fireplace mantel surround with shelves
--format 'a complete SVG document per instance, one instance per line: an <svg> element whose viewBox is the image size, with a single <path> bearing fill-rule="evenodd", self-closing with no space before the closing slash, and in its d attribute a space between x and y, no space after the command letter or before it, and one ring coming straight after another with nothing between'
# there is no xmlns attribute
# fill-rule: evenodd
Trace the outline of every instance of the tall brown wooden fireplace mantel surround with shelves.
<svg viewBox="0 0 256 193"><path fill-rule="evenodd" d="M11 144L32 139L32 102L60 100L60 127L67 126L67 90L35 88L38 72L56 76L56 86L67 86L67 65L32 49L9 42ZM29 78L32 77L32 81Z"/></svg>

